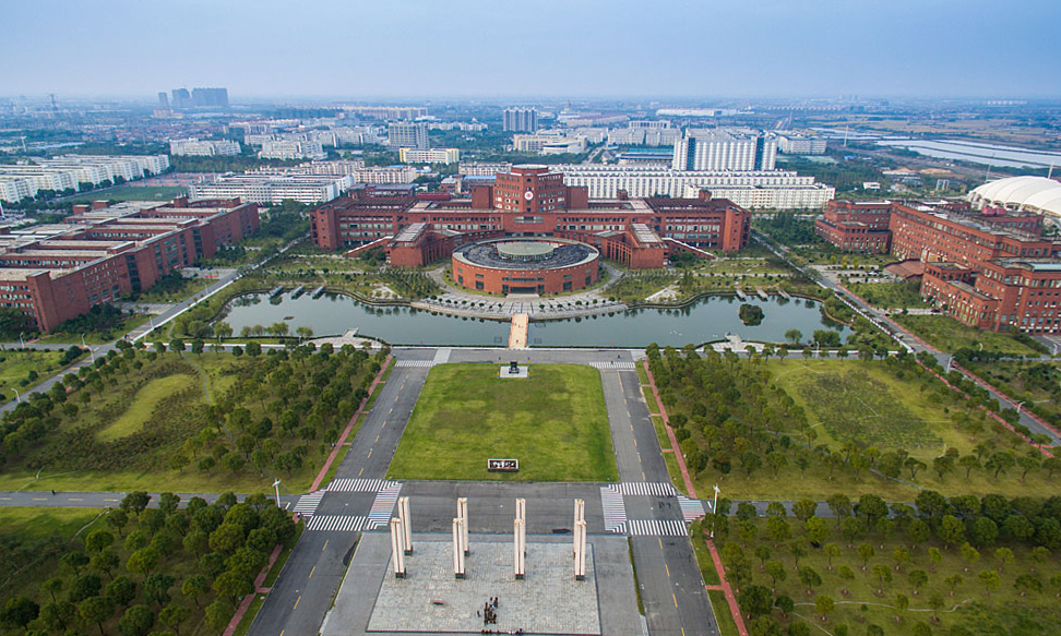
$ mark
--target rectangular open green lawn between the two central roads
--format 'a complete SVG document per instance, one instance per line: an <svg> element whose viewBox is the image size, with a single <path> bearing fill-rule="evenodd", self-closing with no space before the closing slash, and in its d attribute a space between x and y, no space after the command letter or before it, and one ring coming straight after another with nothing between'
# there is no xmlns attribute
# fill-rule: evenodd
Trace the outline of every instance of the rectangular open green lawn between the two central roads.
<svg viewBox="0 0 1061 636"><path fill-rule="evenodd" d="M516 458L518 472L487 472ZM443 364L428 374L391 463L393 479L615 481L600 374L581 365L498 377L493 364Z"/></svg>

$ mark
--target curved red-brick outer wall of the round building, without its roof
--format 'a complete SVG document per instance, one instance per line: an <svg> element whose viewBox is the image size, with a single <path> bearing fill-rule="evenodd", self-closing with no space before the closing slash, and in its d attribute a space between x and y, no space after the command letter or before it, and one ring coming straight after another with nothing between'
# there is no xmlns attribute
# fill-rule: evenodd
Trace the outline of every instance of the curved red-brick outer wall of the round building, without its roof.
<svg viewBox="0 0 1061 636"><path fill-rule="evenodd" d="M576 241L548 239L543 242L560 245L576 245L585 251L585 257L568 264L563 259L533 263L513 262L511 267L497 261L476 262L469 259L469 248L488 247L497 242L511 242L512 239L481 241L453 252L453 280L467 289L489 293L538 293L550 295L575 291L597 281L600 253L593 247Z"/></svg>

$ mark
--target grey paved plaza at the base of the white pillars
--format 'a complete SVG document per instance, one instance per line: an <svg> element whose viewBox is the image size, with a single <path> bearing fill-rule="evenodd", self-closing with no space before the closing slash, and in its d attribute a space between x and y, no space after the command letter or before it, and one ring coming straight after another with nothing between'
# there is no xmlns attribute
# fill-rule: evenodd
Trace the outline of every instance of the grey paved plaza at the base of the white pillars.
<svg viewBox="0 0 1061 636"><path fill-rule="evenodd" d="M414 535L406 577L398 579L390 535L362 535L322 634L641 634L625 539L589 538L584 581L574 579L571 541L528 536L526 578L515 580L512 538L473 535L466 578L457 580L450 537ZM499 599L497 624L484 625L476 612L490 597Z"/></svg>

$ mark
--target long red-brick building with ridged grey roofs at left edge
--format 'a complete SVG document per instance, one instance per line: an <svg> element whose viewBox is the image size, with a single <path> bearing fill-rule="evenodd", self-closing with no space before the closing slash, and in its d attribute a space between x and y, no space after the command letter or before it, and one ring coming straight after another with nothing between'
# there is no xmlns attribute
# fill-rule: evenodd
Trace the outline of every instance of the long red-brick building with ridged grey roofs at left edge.
<svg viewBox="0 0 1061 636"><path fill-rule="evenodd" d="M0 307L33 315L44 332L150 289L259 228L258 206L238 199L97 202L74 206L64 221L0 230Z"/></svg>

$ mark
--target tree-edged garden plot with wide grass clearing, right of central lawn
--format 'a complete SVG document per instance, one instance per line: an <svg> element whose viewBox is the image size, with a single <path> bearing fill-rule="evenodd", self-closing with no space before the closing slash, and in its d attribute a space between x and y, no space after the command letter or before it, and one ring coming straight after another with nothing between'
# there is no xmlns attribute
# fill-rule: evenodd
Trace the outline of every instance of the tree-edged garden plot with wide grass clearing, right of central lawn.
<svg viewBox="0 0 1061 636"><path fill-rule="evenodd" d="M910 356L747 360L654 347L648 356L698 491L717 483L732 499L843 492L891 501L923 489L1057 491L1061 460L989 417L980 407L999 405L986 392L965 381L965 399Z"/></svg>

